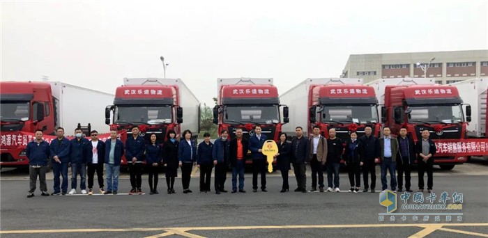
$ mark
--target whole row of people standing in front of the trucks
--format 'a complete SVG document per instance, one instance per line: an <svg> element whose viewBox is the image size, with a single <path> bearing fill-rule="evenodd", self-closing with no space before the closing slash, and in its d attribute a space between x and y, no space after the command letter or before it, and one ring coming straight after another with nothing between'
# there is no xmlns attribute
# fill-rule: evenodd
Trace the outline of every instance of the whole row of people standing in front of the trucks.
<svg viewBox="0 0 488 238"><path fill-rule="evenodd" d="M54 173L54 191L51 195L65 195L68 192L68 167L71 166L71 190L70 194L77 191L77 175L80 175L80 189L82 194L93 194L93 180L97 173L98 187L102 194L117 194L119 188L119 171L122 156L125 155L130 172L130 194L142 194L142 172L144 161L148 171L148 184L150 194L158 194L158 177L160 166L165 166L167 193L176 193L174 181L178 168L181 168L183 193L192 193L190 190L190 178L193 166L200 169L199 189L201 193L211 191L211 173L214 171L214 189L216 194L227 193L224 189L229 165L232 170L232 193L245 193L244 169L245 157L248 151L252 157L252 191L258 191L258 177L261 176L259 189L266 189L266 157L262 153L262 146L266 136L261 134L259 125L254 127L254 134L247 140L243 137L243 129L237 128L236 136L229 140L229 132L223 130L221 136L213 143L210 134L204 134L204 141L195 144L192 140L192 132L185 130L182 139L176 139L176 132L170 130L164 143L157 143L157 136L150 134L151 141L146 143L139 136L139 127L131 128L125 145L117 138L117 132L110 132L110 139L103 142L98 140L98 132L93 130L91 140L82 137L82 129L75 129L75 138L68 140L64 137L64 129L56 129L57 138L51 143L43 141L42 130L37 130L35 139L26 148L26 156L29 158L30 189L28 198L34 196L36 180L39 177L42 196L49 196L45 182L47 164L52 159ZM360 173L363 170L365 188L374 192L376 185L376 164L381 167L381 185L383 191L387 189L387 171L390 173L390 187L392 191L402 191L403 175L405 175L405 189L411 192L411 166L417 159L420 191L424 187L424 173L427 172L427 190L432 191L432 158L436 153L435 143L429 139L429 131L422 131L422 139L416 144L407 135L406 128L400 129L399 136L390 135L390 128L383 128L383 136L376 138L372 134L372 127L365 127L365 135L358 138L357 132L350 132L350 138L345 141L337 138L335 129L329 129L328 138L321 136L319 126L313 127L313 136L307 138L303 135L302 127L296 127L296 137L291 143L287 142L287 134L281 133L278 141L278 152L274 159L277 169L282 174L282 190L289 191L288 175L293 164L297 188L294 191L306 193L306 166L310 164L312 169L312 188L310 191L325 191L323 170L326 170L328 188L326 191L339 192L340 162L344 160L351 184L350 192L360 191ZM103 170L107 175L107 190L104 189ZM86 168L88 168L88 189L86 191ZM398 180L395 176L398 171ZM371 184L369 186L369 174ZM60 177L63 178L61 183ZM398 188L398 190L397 190Z"/></svg>

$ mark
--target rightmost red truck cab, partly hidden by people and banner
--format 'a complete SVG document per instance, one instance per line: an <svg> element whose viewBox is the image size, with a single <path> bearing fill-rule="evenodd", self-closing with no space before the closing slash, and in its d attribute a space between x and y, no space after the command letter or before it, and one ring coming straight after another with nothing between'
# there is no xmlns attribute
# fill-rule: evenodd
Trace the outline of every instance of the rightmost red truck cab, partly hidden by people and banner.
<svg viewBox="0 0 488 238"><path fill-rule="evenodd" d="M390 127L392 134L399 134L402 126L416 142L423 129L428 129L430 138L438 146L434 164L450 170L456 164L463 164L467 157L460 155L456 146L466 136L466 124L471 121L471 106L466 105L466 119L463 113L463 100L455 86L412 85L386 86L385 105L381 119ZM443 145L450 150L443 151Z"/></svg>

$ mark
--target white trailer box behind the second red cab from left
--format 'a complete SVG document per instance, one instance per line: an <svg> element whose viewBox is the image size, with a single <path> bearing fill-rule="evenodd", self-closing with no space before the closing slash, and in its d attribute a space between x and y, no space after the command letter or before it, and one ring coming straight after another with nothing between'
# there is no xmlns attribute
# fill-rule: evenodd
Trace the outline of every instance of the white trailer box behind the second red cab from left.
<svg viewBox="0 0 488 238"><path fill-rule="evenodd" d="M124 78L124 85L161 85L177 86L178 102L183 109L183 123L181 129L190 129L194 135L200 132L200 102L192 93L190 88L181 79L158 79L158 78ZM113 101L112 101L113 102ZM109 104L112 104L110 102ZM107 105L109 105L107 104Z"/></svg>

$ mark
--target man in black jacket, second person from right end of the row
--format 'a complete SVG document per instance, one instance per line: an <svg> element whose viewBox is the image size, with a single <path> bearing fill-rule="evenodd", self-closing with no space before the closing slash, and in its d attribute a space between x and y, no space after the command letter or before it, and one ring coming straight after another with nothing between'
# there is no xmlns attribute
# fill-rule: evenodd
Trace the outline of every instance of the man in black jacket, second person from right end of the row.
<svg viewBox="0 0 488 238"><path fill-rule="evenodd" d="M399 151L397 155L398 171L398 191L403 189L403 174L405 173L405 191L412 192L410 189L410 171L415 161L415 143L413 139L406 134L406 127L400 128L400 136L397 137Z"/></svg>

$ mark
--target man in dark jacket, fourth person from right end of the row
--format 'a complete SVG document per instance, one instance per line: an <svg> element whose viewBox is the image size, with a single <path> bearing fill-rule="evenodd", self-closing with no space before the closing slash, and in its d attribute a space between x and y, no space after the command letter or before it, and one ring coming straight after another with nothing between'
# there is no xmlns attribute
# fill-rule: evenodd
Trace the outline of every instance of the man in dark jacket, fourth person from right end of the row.
<svg viewBox="0 0 488 238"><path fill-rule="evenodd" d="M374 187L376 187L376 163L379 162L380 145L379 139L372 135L372 128L370 126L365 127L365 135L359 138L361 143L361 154L363 163L363 181L365 183L365 189L363 192L367 192L369 183L367 181L367 174L371 173L371 192L374 193Z"/></svg>

